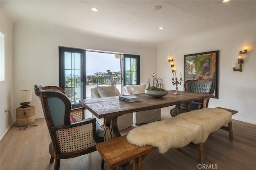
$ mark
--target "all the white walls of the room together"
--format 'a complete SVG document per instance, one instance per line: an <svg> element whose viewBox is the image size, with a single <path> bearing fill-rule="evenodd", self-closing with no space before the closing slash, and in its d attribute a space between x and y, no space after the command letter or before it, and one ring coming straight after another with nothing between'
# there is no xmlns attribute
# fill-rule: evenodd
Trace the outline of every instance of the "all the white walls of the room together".
<svg viewBox="0 0 256 170"><path fill-rule="evenodd" d="M255 19L162 43L157 48L140 42L90 35L53 24L24 20L13 23L1 8L1 32L6 40L6 80L0 82L1 138L12 125L10 116L3 113L4 107L11 112L15 121L15 109L20 106L20 90L33 90L35 84L58 85L58 46L139 54L141 83L146 83L151 73L157 72L158 77L165 78L165 89L174 89L167 62L169 55L174 57L178 73L183 73L184 55L219 50L219 99L210 99L209 107L238 110L234 119L256 124ZM232 63L237 61L238 53L245 45L249 50L244 56L243 72L233 72ZM180 90L182 86L179 86ZM36 118L43 117L42 107L34 93L31 105L36 107Z"/></svg>

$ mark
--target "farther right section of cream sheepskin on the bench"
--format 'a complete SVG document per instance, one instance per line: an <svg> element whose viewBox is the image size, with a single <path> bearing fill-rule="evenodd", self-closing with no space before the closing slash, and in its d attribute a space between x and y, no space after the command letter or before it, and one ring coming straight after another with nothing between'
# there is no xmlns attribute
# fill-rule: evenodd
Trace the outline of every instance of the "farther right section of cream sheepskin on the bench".
<svg viewBox="0 0 256 170"><path fill-rule="evenodd" d="M224 109L204 108L182 113L177 118L196 123L203 129L202 141L204 143L209 134L218 130L231 121L232 113Z"/></svg>

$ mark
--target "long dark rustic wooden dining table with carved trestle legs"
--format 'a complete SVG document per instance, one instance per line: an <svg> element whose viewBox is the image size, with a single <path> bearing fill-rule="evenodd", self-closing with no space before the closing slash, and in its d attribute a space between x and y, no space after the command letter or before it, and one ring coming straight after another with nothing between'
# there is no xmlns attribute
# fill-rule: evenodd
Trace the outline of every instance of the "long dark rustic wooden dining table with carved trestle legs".
<svg viewBox="0 0 256 170"><path fill-rule="evenodd" d="M141 101L137 102L122 101L119 99L119 96L82 99L79 102L97 118L104 118L104 124L102 125L102 129L105 132L104 139L110 140L121 136L117 127L118 116L173 105L176 105L174 112L179 114L190 111L190 103L192 101L203 100L203 103L206 103L207 99L213 97L211 94L192 93L186 91L178 91L179 95L175 95L175 92L175 90L170 90L167 95L159 99L154 99L145 93L136 94L135 96L141 98ZM180 109L179 106L181 103L186 103L185 110Z"/></svg>

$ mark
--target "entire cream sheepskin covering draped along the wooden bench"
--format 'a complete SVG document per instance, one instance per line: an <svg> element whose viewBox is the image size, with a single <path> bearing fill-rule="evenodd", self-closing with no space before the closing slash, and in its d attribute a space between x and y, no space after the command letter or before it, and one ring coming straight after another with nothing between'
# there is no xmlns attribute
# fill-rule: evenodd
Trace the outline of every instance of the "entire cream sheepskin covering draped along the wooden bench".
<svg viewBox="0 0 256 170"><path fill-rule="evenodd" d="M211 132L229 123L231 117L232 113L223 109L204 108L134 128L126 138L137 146L152 145L165 153L190 142L204 143Z"/></svg>

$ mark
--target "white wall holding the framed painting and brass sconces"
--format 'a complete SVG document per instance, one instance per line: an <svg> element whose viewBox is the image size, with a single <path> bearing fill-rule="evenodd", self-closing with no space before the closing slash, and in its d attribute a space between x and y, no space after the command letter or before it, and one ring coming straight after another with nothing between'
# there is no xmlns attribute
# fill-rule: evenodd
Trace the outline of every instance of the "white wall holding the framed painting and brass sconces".
<svg viewBox="0 0 256 170"><path fill-rule="evenodd" d="M247 54L239 54L248 47ZM237 110L233 119L256 124L256 18L241 21L217 30L158 45L158 76L170 82L169 55L178 67L177 75L184 73L184 55L219 50L219 99L210 99L208 107ZM244 58L243 71L232 70L238 56ZM167 83L166 89L175 89ZM182 85L178 89L183 89Z"/></svg>

